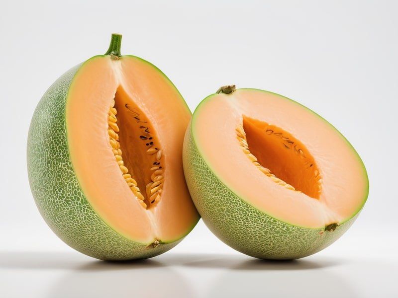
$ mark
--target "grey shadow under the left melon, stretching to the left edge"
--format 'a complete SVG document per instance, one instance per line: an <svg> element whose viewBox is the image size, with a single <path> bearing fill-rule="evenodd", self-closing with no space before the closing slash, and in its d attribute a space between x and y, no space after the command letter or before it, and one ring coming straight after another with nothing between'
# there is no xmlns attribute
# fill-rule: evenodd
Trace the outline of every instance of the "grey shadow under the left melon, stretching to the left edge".
<svg viewBox="0 0 398 298"><path fill-rule="evenodd" d="M153 259L100 261L78 252L0 252L0 269L115 271L162 266Z"/></svg>

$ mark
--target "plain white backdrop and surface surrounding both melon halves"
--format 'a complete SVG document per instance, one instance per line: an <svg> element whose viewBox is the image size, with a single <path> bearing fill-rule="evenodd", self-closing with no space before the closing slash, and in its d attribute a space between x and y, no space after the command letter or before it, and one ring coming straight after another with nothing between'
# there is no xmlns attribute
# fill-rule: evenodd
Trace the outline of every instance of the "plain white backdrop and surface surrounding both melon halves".
<svg viewBox="0 0 398 298"><path fill-rule="evenodd" d="M397 297L396 3L1 0L0 297ZM69 248L30 193L27 132L50 84L103 54L112 32L123 34L122 54L158 66L192 110L235 83L331 122L368 170L356 223L324 251L283 263L235 252L201 221L173 250L139 263Z"/></svg>

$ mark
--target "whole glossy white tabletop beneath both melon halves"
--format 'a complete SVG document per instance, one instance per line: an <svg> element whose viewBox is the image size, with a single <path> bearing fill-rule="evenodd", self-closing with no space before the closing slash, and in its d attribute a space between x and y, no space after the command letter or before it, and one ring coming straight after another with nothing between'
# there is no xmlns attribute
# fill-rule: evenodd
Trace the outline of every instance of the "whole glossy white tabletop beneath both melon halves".
<svg viewBox="0 0 398 298"><path fill-rule="evenodd" d="M0 297L396 297L397 271L394 259L368 257L171 252L103 262L77 252L0 252Z"/></svg>

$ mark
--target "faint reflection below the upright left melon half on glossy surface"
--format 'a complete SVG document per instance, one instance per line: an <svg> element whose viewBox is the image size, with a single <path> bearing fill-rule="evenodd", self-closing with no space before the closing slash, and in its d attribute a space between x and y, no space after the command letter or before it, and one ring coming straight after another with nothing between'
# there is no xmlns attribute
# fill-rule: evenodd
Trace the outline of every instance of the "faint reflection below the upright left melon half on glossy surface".
<svg viewBox="0 0 398 298"><path fill-rule="evenodd" d="M48 298L196 297L184 276L153 260L84 264L62 275L46 293Z"/></svg>

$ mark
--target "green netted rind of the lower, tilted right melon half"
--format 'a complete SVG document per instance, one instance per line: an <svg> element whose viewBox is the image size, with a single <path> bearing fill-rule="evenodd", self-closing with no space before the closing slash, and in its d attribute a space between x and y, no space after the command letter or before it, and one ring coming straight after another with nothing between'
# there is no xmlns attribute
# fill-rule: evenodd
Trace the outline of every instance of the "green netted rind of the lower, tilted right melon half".
<svg viewBox="0 0 398 298"><path fill-rule="evenodd" d="M205 98L194 112L183 149L187 185L207 227L230 247L260 259L298 259L316 253L337 240L358 217L368 192L355 214L338 226L299 227L259 211L249 204L248 198L238 197L233 190L225 186L217 173L211 169L211 165L203 159L195 143L195 115L200 112L200 105L211 100L213 96L214 94ZM320 116L319 118L326 121ZM334 127L331 128L340 134ZM348 141L347 144L351 146ZM362 163L360 158L359 160ZM364 173L367 179L365 167Z"/></svg>

